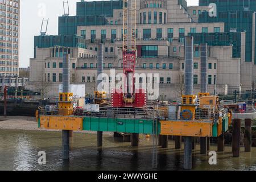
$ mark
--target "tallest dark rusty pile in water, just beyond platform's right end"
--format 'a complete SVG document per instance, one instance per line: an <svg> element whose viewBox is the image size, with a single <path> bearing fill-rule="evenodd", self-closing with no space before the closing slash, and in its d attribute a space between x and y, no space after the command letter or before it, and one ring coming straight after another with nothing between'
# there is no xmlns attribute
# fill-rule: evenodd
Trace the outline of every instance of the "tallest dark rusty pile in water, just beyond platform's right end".
<svg viewBox="0 0 256 182"><path fill-rule="evenodd" d="M233 119L232 133L232 152L233 157L240 156L240 135L241 135L241 119Z"/></svg>

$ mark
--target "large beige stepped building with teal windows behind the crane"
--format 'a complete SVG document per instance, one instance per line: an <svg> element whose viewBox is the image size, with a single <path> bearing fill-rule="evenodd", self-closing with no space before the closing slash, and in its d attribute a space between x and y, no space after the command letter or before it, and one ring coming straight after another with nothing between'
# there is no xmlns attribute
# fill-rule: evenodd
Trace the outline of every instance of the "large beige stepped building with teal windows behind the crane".
<svg viewBox="0 0 256 182"><path fill-rule="evenodd" d="M214 93L216 90L218 94L225 94L226 91L232 93L235 89L239 90L240 86L242 90L250 89L255 73L251 69L253 63L245 62L246 32L229 35L229 32L225 32L225 23L199 23L197 22L199 14L207 11L208 7L186 7L180 2L184 1L137 1L136 72L139 74L159 73L159 98L163 96L165 100L176 100L183 91L184 38L193 34L195 36L193 73L195 94L200 92L199 36L204 38L205 42L209 42L209 92ZM77 8L80 10L80 6L89 8L91 5L95 8L96 2L79 2ZM28 88L36 92L47 88L49 97L57 96L57 87L62 81L62 57L56 56L56 49L59 49L57 51L59 53L60 48L62 52L64 49L72 49L69 51L72 52L71 82L84 83L86 93L92 94L97 89L97 47L99 43L104 43L104 72L110 75L110 69L115 69L116 73L122 73L122 12L122 9L113 9L113 15L106 15L103 25L89 25L88 23L77 25L76 34L84 38L86 48L56 45L43 48L42 44L35 46L35 57L30 59ZM85 17L89 19L88 15ZM68 21L72 17L64 18ZM79 18L81 17L78 16L77 19ZM59 36L65 36L60 30L59 34ZM236 50L233 44L214 42L215 39L224 42L234 37L240 39L239 56L234 56ZM41 42L43 38L40 37Z"/></svg>

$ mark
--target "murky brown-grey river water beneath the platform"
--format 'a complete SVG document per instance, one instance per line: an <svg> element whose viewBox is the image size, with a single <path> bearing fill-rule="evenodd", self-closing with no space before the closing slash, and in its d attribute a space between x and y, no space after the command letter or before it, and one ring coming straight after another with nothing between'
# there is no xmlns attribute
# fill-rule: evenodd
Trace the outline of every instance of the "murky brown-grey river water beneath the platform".
<svg viewBox="0 0 256 182"><path fill-rule="evenodd" d="M112 135L104 135L104 147L96 147L97 135L74 134L71 138L71 159L61 159L61 133L48 131L0 130L0 170L152 170L152 138L140 135L140 147L122 143ZM216 150L211 146L210 150ZM209 156L200 155L200 146L193 151L193 170L256 170L256 148L232 157L232 148L217 153L217 165L208 163ZM38 152L46 152L47 164L38 164ZM182 170L183 151L158 149L158 170Z"/></svg>

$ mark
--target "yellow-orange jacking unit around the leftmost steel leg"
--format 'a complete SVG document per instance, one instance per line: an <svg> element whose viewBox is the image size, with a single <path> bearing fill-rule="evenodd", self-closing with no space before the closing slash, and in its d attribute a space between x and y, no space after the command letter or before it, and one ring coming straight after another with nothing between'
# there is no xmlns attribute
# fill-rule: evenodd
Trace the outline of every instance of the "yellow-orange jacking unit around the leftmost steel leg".
<svg viewBox="0 0 256 182"><path fill-rule="evenodd" d="M59 115L73 114L73 93L59 94Z"/></svg>

